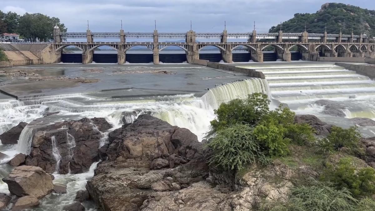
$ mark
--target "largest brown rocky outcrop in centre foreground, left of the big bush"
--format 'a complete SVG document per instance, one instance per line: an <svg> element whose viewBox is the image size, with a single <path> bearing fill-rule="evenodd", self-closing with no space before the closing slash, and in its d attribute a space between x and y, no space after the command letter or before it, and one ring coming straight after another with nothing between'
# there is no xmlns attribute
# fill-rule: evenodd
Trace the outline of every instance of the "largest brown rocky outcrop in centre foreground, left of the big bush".
<svg viewBox="0 0 375 211"><path fill-rule="evenodd" d="M138 210L155 191L177 191L208 176L209 154L197 137L150 115L114 130L109 142L108 160L86 185L105 211Z"/></svg>

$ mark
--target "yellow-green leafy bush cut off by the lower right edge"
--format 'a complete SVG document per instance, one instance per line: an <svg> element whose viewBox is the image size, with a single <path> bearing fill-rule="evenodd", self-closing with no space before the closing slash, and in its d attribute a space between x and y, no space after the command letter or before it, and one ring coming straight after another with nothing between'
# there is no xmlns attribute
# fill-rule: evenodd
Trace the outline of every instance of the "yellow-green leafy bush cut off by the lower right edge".
<svg viewBox="0 0 375 211"><path fill-rule="evenodd" d="M336 167L329 167L321 179L332 182L338 189L348 189L353 196L375 194L375 170L372 167L356 170L352 158L341 158Z"/></svg>

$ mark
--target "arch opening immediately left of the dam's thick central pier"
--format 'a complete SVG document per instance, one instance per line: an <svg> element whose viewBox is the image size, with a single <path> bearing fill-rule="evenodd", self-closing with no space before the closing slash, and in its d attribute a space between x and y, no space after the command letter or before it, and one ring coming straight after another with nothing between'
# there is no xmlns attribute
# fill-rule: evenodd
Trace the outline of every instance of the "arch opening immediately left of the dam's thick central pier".
<svg viewBox="0 0 375 211"><path fill-rule="evenodd" d="M166 45L159 49L160 63L186 63L187 49L178 45Z"/></svg>

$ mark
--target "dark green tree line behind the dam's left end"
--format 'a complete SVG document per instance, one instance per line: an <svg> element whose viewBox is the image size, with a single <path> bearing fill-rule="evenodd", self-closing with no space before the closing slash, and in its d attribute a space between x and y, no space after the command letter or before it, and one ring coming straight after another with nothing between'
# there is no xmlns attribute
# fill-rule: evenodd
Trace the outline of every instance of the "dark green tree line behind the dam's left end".
<svg viewBox="0 0 375 211"><path fill-rule="evenodd" d="M60 32L67 28L60 19L49 17L40 13L25 13L18 15L15 12L4 13L0 11L0 35L3 33L17 33L24 39L53 39L53 27L60 27Z"/></svg>

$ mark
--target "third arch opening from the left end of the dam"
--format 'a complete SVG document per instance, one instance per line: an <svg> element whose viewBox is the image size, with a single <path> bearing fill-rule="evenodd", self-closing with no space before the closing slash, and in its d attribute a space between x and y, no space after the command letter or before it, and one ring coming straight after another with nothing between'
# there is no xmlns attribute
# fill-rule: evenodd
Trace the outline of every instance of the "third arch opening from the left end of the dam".
<svg viewBox="0 0 375 211"><path fill-rule="evenodd" d="M126 63L153 63L153 51L145 45L132 45L125 51Z"/></svg>

